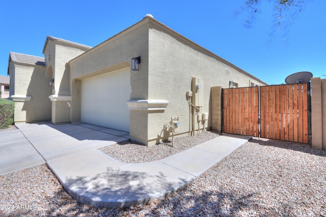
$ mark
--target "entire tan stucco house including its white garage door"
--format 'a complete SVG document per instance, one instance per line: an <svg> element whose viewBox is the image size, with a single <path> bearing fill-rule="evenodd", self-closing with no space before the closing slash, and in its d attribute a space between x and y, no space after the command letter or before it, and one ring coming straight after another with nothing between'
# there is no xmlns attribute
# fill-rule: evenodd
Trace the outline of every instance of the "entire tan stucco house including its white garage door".
<svg viewBox="0 0 326 217"><path fill-rule="evenodd" d="M173 125L174 135L209 130L211 87L267 85L152 16L93 48L48 36L43 54L21 63L12 55L23 54L10 53L15 121L81 121L147 145L171 137Z"/></svg>

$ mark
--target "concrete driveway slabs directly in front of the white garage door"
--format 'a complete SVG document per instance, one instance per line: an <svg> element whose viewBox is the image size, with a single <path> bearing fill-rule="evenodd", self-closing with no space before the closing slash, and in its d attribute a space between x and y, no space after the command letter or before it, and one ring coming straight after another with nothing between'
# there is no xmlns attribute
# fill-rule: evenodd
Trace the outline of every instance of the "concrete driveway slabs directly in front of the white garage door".
<svg viewBox="0 0 326 217"><path fill-rule="evenodd" d="M129 139L127 132L87 123L18 123L16 127L0 132L0 175Z"/></svg>

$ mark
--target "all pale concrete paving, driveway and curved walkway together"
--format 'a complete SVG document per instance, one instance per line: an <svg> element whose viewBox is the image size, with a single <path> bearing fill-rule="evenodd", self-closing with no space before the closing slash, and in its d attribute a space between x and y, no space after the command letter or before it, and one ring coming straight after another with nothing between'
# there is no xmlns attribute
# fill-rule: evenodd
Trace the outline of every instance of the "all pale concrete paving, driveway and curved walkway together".
<svg viewBox="0 0 326 217"><path fill-rule="evenodd" d="M86 123L17 127L0 132L0 174L46 162L74 199L96 207L129 207L168 195L251 139L222 135L166 159L128 164L97 149L127 140L126 132Z"/></svg>

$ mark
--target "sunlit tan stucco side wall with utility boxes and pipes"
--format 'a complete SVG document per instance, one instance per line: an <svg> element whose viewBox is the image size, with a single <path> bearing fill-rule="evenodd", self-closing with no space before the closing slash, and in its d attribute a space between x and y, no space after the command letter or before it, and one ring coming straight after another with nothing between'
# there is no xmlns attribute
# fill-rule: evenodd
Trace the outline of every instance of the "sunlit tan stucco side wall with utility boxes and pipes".
<svg viewBox="0 0 326 217"><path fill-rule="evenodd" d="M192 90L192 77L199 78L204 82L204 102L198 113L209 113L209 118L204 123L208 129L211 127L211 87L228 88L230 81L238 83L238 87L249 86L250 82L266 85L215 54L167 31L155 22L149 29L149 45L148 98L169 101L164 113L148 114L149 140L160 135L164 123L170 122L171 115L179 116L179 133L189 131L189 106L186 100L186 91ZM226 73L227 70L230 71L229 75ZM196 115L195 129L203 128L203 122L198 125Z"/></svg>

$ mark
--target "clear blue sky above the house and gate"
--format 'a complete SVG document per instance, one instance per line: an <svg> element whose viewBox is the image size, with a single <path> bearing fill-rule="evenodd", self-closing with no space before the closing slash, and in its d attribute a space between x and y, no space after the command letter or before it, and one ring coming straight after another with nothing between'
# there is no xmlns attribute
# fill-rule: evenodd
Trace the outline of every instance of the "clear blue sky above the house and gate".
<svg viewBox="0 0 326 217"><path fill-rule="evenodd" d="M48 35L96 46L149 13L268 84L301 71L326 78L326 1L308 1L291 28L274 37L273 5L262 3L248 28L246 14L236 16L244 1L3 1L0 75L7 75L10 51L43 56Z"/></svg>

